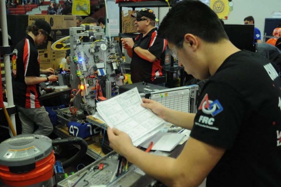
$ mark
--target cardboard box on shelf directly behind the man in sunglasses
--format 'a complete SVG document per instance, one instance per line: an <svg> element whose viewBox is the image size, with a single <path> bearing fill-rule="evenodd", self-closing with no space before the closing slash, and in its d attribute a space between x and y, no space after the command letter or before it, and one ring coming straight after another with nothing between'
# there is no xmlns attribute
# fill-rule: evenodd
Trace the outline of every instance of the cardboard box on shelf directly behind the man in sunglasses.
<svg viewBox="0 0 281 187"><path fill-rule="evenodd" d="M135 27L136 18L132 18L131 14L136 13L135 10L122 11L122 33L137 33Z"/></svg>

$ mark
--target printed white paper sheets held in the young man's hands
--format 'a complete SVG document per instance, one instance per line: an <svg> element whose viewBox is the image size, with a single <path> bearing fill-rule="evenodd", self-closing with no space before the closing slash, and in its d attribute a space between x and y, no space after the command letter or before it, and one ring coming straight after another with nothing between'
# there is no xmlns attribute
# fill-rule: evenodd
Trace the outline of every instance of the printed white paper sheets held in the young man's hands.
<svg viewBox="0 0 281 187"><path fill-rule="evenodd" d="M141 106L137 88L96 104L97 111L111 128L126 132L134 146L156 134L165 125L150 109Z"/></svg>

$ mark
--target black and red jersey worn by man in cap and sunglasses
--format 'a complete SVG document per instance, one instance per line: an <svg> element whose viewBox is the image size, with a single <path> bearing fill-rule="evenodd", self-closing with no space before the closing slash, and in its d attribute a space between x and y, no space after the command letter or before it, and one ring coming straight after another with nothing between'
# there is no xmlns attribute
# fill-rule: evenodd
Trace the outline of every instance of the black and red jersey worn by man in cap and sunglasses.
<svg viewBox="0 0 281 187"><path fill-rule="evenodd" d="M165 75L165 49L167 41L157 37L157 29L152 29L145 37L139 34L135 43L156 57L154 62L149 62L133 52L131 60L131 80L133 83L145 81L153 83L155 76Z"/></svg>

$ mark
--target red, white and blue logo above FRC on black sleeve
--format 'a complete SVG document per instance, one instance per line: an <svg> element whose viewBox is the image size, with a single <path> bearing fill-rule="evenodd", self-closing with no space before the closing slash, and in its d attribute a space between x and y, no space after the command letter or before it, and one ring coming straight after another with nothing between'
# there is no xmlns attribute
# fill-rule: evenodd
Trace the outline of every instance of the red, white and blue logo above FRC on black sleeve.
<svg viewBox="0 0 281 187"><path fill-rule="evenodd" d="M219 100L216 99L215 101L208 99L208 94L206 94L200 104L198 110L202 110L205 114L211 114L213 117L219 114L224 108L219 103Z"/></svg>

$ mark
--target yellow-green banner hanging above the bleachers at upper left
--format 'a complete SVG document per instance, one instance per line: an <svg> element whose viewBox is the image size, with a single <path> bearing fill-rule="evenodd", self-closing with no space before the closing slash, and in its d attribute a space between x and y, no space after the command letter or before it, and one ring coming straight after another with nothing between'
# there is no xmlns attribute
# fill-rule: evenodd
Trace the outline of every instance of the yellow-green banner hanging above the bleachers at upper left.
<svg viewBox="0 0 281 187"><path fill-rule="evenodd" d="M90 14L90 1L89 0L73 0L72 15L88 16L89 14Z"/></svg>

